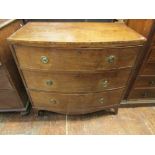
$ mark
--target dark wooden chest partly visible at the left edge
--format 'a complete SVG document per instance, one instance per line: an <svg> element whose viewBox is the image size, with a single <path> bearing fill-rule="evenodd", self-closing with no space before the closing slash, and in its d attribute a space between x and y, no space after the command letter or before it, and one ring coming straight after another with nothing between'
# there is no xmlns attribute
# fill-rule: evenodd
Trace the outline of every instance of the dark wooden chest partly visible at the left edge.
<svg viewBox="0 0 155 155"><path fill-rule="evenodd" d="M22 20L0 20L0 112L26 114L28 108L28 97L6 41L22 24Z"/></svg>

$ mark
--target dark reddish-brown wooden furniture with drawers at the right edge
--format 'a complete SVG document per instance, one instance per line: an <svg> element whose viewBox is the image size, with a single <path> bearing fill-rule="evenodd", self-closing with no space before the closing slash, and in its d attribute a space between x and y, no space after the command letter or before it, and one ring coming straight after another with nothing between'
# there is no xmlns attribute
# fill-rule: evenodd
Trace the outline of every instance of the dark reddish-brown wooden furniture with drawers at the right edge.
<svg viewBox="0 0 155 155"><path fill-rule="evenodd" d="M148 40L141 53L122 102L129 105L155 103L155 20L128 20L127 25L144 35Z"/></svg>

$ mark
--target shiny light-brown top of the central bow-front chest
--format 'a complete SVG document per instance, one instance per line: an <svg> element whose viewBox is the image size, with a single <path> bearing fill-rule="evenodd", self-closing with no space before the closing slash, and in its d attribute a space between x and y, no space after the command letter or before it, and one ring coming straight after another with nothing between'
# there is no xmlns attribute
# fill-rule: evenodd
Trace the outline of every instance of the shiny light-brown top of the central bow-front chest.
<svg viewBox="0 0 155 155"><path fill-rule="evenodd" d="M143 44L145 38L123 23L97 22L30 22L8 39L12 43L42 44L98 44L101 46Z"/></svg>

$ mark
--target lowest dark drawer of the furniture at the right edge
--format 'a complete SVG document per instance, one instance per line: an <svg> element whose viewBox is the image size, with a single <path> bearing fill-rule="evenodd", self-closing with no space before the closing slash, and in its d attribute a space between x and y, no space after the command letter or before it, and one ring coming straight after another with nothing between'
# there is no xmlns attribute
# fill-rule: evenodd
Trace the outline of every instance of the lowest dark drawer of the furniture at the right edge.
<svg viewBox="0 0 155 155"><path fill-rule="evenodd" d="M134 89L129 95L129 99L154 99L155 89Z"/></svg>

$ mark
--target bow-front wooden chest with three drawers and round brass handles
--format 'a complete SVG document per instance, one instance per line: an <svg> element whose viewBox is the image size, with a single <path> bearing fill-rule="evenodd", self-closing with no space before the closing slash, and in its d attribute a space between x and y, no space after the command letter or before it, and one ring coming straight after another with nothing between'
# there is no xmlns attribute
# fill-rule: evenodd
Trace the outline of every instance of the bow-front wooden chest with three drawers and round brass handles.
<svg viewBox="0 0 155 155"><path fill-rule="evenodd" d="M8 38L36 110L116 113L145 38L122 23L33 23Z"/></svg>

